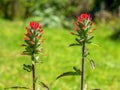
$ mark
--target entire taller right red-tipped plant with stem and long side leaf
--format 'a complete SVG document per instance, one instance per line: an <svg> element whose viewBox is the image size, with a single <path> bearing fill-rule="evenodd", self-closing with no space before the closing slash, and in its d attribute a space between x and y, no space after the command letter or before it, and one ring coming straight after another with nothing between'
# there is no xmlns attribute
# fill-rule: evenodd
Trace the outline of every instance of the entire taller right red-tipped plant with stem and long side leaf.
<svg viewBox="0 0 120 90"><path fill-rule="evenodd" d="M57 77L63 77L63 76L69 76L69 75L81 75L80 80L80 86L81 90L84 89L84 59L89 59L88 55L88 49L86 48L86 43L91 43L91 40L93 36L91 36L91 33L95 30L95 28L92 28L92 17L90 14L81 14L78 16L77 21L74 22L75 29L74 32L70 32L70 34L76 36L75 40L76 43L70 44L69 46L82 46L82 55L81 55L81 70L77 69L76 67L73 67L74 71L68 71L65 72ZM94 61L92 59L89 59L92 67L94 68Z"/></svg>

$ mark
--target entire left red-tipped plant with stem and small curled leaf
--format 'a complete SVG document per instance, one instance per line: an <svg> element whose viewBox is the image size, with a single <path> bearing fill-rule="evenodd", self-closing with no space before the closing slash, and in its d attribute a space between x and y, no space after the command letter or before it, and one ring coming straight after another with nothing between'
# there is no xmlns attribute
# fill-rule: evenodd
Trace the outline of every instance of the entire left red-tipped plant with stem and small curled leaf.
<svg viewBox="0 0 120 90"><path fill-rule="evenodd" d="M22 55L29 55L31 57L32 65L24 64L23 68L27 71L32 71L33 90L35 90L36 88L35 63L38 62L38 58L39 58L36 54L41 52L40 47L41 47L41 42L43 42L43 40L41 39L43 35L43 29L39 23L30 22L29 27L26 27L26 31L27 33L23 38L25 43L21 44L21 46L25 47L25 51L22 52Z"/></svg>

